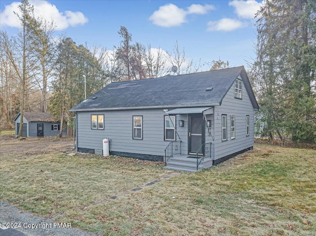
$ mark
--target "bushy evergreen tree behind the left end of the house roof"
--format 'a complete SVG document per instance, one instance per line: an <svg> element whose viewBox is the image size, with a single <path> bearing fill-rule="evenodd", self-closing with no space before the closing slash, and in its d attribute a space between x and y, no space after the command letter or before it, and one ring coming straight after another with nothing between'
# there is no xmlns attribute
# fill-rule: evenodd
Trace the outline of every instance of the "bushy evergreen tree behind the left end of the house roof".
<svg viewBox="0 0 316 236"><path fill-rule="evenodd" d="M61 137L64 121L71 120L69 109L84 100L83 75L89 96L104 86L105 73L92 53L83 45L77 46L70 37L63 38L57 46L54 70L49 110L60 119Z"/></svg>

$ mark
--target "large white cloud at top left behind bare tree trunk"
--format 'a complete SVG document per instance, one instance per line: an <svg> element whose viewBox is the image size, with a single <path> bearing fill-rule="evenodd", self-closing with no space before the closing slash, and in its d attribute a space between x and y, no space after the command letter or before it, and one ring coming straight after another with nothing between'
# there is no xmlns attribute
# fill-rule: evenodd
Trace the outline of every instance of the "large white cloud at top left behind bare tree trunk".
<svg viewBox="0 0 316 236"><path fill-rule="evenodd" d="M56 25L55 30L64 30L70 26L84 25L88 22L88 18L79 11L59 12L54 4L45 0L30 0L30 3L34 5L35 17L42 17L47 21L53 20ZM14 12L20 12L19 4L20 2L12 2L0 12L1 26L20 27L18 17L14 14Z"/></svg>

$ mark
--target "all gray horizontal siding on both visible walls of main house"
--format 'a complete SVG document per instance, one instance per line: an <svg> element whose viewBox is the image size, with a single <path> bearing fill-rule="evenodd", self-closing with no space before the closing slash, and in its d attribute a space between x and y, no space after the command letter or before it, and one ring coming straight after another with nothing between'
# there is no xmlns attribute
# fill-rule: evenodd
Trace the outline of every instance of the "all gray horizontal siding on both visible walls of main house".
<svg viewBox="0 0 316 236"><path fill-rule="evenodd" d="M211 135L205 128L205 142L212 142L212 160L254 144L254 109L242 86L242 100L234 98L233 84L222 104L214 107L214 114L206 115L211 120ZM104 115L104 130L91 129L92 114ZM227 141L222 141L222 114L227 115ZM102 140L107 137L111 140L111 151L163 156L170 143L164 140L164 115L162 108L77 112L78 148L103 149ZM231 115L235 115L235 139L231 139ZM249 136L246 136L246 115L250 118ZM143 117L143 139L133 139L133 116ZM179 120L184 121L184 127L179 127ZM188 154L188 114L176 115L175 127L180 136L176 134L176 140L182 140L182 154Z"/></svg>

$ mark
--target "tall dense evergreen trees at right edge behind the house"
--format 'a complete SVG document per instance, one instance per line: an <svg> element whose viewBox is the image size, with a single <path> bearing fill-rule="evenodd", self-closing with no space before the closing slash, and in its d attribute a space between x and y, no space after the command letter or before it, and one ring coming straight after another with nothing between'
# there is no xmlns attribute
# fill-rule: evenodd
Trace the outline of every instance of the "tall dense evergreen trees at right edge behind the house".
<svg viewBox="0 0 316 236"><path fill-rule="evenodd" d="M266 0L257 15L257 58L250 75L265 132L282 140L316 140L315 0Z"/></svg>

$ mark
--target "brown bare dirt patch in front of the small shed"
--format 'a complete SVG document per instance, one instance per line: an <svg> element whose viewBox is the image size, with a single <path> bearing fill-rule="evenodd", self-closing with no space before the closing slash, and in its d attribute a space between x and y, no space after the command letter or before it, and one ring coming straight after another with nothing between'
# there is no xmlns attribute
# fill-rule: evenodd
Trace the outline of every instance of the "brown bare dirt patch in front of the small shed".
<svg viewBox="0 0 316 236"><path fill-rule="evenodd" d="M2 157L18 155L23 158L24 156L45 154L52 151L72 152L73 137L45 136L19 140L14 135L0 135L0 155Z"/></svg>

